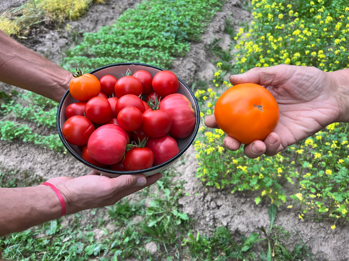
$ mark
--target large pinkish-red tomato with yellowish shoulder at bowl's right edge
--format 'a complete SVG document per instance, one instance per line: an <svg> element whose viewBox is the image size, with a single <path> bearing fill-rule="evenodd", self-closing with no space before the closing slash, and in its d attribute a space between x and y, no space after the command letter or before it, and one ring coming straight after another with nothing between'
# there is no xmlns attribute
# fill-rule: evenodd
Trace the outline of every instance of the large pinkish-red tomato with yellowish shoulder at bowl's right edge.
<svg viewBox="0 0 349 261"><path fill-rule="evenodd" d="M180 93L170 94L163 98L160 107L171 114L171 136L185 138L191 134L196 120L193 105L187 97Z"/></svg>

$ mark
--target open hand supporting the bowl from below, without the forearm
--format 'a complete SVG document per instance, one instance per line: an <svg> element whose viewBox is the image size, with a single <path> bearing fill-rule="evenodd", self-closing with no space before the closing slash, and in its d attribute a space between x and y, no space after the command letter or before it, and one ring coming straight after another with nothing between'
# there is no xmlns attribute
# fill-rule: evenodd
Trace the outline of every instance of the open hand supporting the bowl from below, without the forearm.
<svg viewBox="0 0 349 261"><path fill-rule="evenodd" d="M109 178L91 171L86 176L54 177L47 182L53 184L62 194L68 215L84 209L113 205L120 199L155 183L161 177L162 174L157 173L149 177L134 174Z"/></svg>

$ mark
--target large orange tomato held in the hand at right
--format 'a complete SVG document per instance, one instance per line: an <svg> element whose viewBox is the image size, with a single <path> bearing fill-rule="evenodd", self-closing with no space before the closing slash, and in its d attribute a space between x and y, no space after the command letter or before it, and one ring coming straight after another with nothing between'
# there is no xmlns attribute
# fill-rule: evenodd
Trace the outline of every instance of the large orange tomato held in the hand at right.
<svg viewBox="0 0 349 261"><path fill-rule="evenodd" d="M258 84L237 84L226 90L214 109L218 126L242 144L264 140L276 127L280 111L274 96Z"/></svg>

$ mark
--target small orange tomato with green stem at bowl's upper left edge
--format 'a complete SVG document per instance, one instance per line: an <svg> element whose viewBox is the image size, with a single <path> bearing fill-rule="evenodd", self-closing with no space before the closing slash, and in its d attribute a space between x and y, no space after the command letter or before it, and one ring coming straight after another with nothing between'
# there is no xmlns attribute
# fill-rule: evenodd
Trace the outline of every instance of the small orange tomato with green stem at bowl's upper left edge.
<svg viewBox="0 0 349 261"><path fill-rule="evenodd" d="M74 79L69 82L69 92L78 101L88 101L98 96L101 92L101 84L96 76L90 73L76 71Z"/></svg>

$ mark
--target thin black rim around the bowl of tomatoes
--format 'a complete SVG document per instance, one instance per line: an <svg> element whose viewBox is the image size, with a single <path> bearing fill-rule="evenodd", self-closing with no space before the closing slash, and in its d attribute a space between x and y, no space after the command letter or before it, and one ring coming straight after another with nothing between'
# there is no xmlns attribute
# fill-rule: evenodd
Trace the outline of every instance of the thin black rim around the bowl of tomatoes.
<svg viewBox="0 0 349 261"><path fill-rule="evenodd" d="M110 64L110 65L103 66L103 67L98 68L96 70L93 70L93 71L91 71L89 73L94 74L94 73L96 73L96 72L98 72L100 70L103 70L103 69L106 69L106 68L110 68L110 67L115 67L115 66L121 66L121 65L142 65L142 66L146 66L146 67L157 69L159 71L164 71L164 69L161 69L161 68L153 66L153 65L144 64L144 63L115 63L115 64ZM195 122L194 132L193 132L190 140L185 145L185 147L183 149L181 149L179 151L179 153L176 156L174 156L173 158L165 161L162 164L159 164L159 165L156 165L156 166L152 166L152 167L147 168L147 169L141 169L141 170L138 170L138 171L116 171L116 170L113 170L113 169L101 168L101 167L93 165L93 164L89 163L88 161L82 159L79 155L76 154L76 152L74 150L72 150L72 148L70 148L69 143L63 137L63 134L62 134L62 131L61 131L61 126L60 126L60 119L59 119L60 118L60 113L61 113L61 110L62 110L63 102L64 102L65 98L69 94L69 89L66 91L66 93L64 94L64 96L62 97L62 99L61 99L61 101L60 101L60 103L58 105L57 117L56 117L56 119L57 119L56 122L57 122L58 135L59 135L62 143L64 144L64 147L69 151L70 154L73 155L74 158L76 158L77 160L79 160L83 164L87 165L88 167L93 168L93 169L95 169L97 171L101 171L101 172L105 172L105 173L109 173L109 174L115 174L115 175L147 173L147 172L150 172L150 171L155 171L158 168L162 168L162 167L172 163L173 161L177 160L181 155L183 155L183 153L190 147L190 145L193 143L193 141L194 141L194 139L196 137L196 134L198 133L199 126L200 126L200 110L199 110L198 101L196 101L196 98L195 98L192 90L190 88L188 88L188 86L181 79L178 78L178 80L185 86L185 88L187 88L187 90L192 95L194 103L195 103L194 106L196 107L196 110L197 110L197 112L196 112L197 115L196 115L196 122Z"/></svg>

